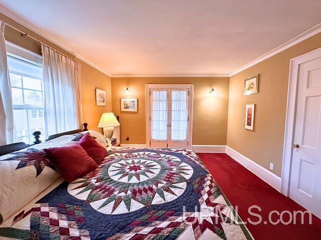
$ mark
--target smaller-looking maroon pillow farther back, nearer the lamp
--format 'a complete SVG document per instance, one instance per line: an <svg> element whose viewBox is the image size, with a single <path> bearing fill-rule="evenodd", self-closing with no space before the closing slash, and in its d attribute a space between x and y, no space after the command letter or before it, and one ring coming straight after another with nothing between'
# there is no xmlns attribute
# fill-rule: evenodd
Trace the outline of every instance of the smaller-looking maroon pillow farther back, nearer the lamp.
<svg viewBox="0 0 321 240"><path fill-rule="evenodd" d="M100 145L90 134L85 134L79 141L78 144L85 149L87 154L94 159L99 165L104 157L107 155L105 147Z"/></svg>

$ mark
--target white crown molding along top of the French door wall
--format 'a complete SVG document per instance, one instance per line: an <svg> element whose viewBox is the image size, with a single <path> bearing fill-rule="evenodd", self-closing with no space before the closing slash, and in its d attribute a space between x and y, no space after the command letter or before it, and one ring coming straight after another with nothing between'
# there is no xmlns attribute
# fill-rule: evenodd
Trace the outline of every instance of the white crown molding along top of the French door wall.
<svg viewBox="0 0 321 240"><path fill-rule="evenodd" d="M111 77L229 77L229 74L112 74Z"/></svg>

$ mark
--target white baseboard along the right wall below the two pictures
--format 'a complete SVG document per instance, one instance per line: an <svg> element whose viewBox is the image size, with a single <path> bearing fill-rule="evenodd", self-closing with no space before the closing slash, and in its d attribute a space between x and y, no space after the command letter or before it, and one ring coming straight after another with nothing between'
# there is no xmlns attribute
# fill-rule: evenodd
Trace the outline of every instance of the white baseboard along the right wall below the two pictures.
<svg viewBox="0 0 321 240"><path fill-rule="evenodd" d="M270 172L263 166L252 161L229 146L226 146L226 154L260 177L263 181L274 187L276 190L281 190L281 177L275 175L273 172Z"/></svg>

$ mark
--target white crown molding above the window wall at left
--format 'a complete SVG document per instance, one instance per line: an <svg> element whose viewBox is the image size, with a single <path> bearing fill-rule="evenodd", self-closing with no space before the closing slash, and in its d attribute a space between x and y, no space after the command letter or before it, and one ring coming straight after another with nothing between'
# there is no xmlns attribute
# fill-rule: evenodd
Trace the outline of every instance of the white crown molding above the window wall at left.
<svg viewBox="0 0 321 240"><path fill-rule="evenodd" d="M92 60L90 60L86 56L82 55L81 53L75 51L74 49L70 48L66 44L64 44L60 41L57 41L57 40L53 39L52 37L49 37L49 33L46 30L37 26L35 23L33 23L32 21L30 21L29 19L27 19L23 15L19 14L15 10L11 9L9 6L7 6L6 4L4 4L2 2L0 2L0 12L4 15L10 17L14 21L20 23L21 25L25 26L29 30L35 32L36 34L42 36L43 38L50 41L51 43L59 46L60 48L64 49L65 51L74 55L78 59L86 62L87 64L91 65L92 67L96 68L97 70L101 71L102 73L106 74L107 76L111 77L111 74L108 71L106 71L105 69L98 66L95 62L93 62Z"/></svg>

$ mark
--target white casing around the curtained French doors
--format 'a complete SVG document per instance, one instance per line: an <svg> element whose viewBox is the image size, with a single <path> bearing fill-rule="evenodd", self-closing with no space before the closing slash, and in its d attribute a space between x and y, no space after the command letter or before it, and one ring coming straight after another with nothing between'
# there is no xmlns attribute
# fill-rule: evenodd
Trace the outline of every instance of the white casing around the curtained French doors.
<svg viewBox="0 0 321 240"><path fill-rule="evenodd" d="M188 142L189 148L192 149L193 139L193 100L194 100L194 85L193 84L145 84L145 111L146 111L146 146L150 147L150 88L189 88L189 132Z"/></svg>

